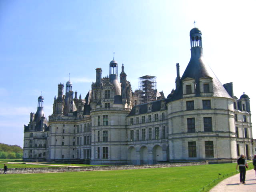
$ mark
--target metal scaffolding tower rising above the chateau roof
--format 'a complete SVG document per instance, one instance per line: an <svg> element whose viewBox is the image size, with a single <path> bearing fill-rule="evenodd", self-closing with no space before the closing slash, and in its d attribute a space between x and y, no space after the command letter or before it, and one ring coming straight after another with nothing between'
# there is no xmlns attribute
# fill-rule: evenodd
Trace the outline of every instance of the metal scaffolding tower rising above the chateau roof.
<svg viewBox="0 0 256 192"><path fill-rule="evenodd" d="M139 89L143 91L142 96L142 102L148 103L155 101L157 99L156 92L157 92L157 86L156 86L156 77L145 75L143 77L138 78L139 80Z"/></svg>

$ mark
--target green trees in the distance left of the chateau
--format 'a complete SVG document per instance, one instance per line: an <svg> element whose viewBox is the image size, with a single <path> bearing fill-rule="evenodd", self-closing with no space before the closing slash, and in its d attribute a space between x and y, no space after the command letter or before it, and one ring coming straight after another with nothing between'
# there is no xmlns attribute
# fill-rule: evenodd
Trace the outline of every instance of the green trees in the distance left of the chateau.
<svg viewBox="0 0 256 192"><path fill-rule="evenodd" d="M22 158L23 149L18 145L0 143L0 158Z"/></svg>

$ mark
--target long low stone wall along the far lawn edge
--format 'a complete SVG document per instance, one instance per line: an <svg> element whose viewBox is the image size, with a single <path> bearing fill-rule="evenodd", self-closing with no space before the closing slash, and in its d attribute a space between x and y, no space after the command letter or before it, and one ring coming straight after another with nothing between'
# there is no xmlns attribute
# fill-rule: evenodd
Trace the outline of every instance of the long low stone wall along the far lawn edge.
<svg viewBox="0 0 256 192"><path fill-rule="evenodd" d="M8 171L7 171L7 174L146 169L146 168L160 168L160 167L179 167L179 166L206 165L206 164L208 164L208 161L206 161L206 162L189 162L189 163L187 163L187 162L172 163L172 164L154 164L154 165L9 168ZM3 174L3 173L4 173L4 169L0 169L0 174Z"/></svg>

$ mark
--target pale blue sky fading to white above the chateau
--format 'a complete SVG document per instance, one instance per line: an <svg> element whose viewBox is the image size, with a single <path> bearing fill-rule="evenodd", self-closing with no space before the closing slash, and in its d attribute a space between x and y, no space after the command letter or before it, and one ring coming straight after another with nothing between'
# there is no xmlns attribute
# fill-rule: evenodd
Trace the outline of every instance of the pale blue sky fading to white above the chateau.
<svg viewBox="0 0 256 192"><path fill-rule="evenodd" d="M255 7L255 0L0 0L0 142L23 147L41 92L46 116L69 73L84 98L96 68L108 75L113 52L133 91L139 77L152 75L168 96L176 63L182 75L190 60L194 21L220 82L250 97L254 125Z"/></svg>

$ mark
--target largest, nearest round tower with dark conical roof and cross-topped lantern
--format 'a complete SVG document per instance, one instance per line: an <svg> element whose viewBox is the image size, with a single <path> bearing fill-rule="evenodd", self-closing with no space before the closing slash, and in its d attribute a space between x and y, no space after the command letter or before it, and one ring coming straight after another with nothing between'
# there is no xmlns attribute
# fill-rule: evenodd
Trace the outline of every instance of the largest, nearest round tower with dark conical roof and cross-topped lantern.
<svg viewBox="0 0 256 192"><path fill-rule="evenodd" d="M232 161L237 158L234 100L204 62L202 32L198 28L190 31L190 46L190 61L180 81L176 64L176 90L167 104L168 109L172 109L168 114L172 121L169 146L174 149L169 158ZM180 134L179 139L176 139L177 134ZM220 143L226 148L220 148ZM190 152L192 147L195 149L193 153Z"/></svg>

